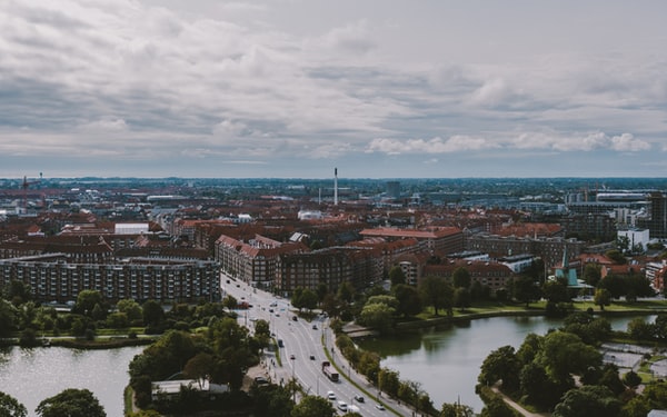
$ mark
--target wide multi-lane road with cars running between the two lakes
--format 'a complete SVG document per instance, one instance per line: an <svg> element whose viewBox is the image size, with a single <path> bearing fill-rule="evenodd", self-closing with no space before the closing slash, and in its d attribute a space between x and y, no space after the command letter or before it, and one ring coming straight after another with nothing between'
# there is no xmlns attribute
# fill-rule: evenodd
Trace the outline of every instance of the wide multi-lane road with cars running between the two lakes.
<svg viewBox="0 0 667 417"><path fill-rule="evenodd" d="M233 280L226 276L222 276L221 282L223 296L229 294L237 300L248 301L252 306L247 310L237 311L239 324L252 331L253 322L257 319L267 320L275 338L282 340L282 347L279 348L280 360L269 351L265 357L266 369L272 381L286 384L296 378L306 394L318 395L323 398L327 398L328 393L332 391L336 396L332 404L337 409L338 401L344 401L348 406L358 407L358 413L362 416L394 415L390 410L376 408L378 404L376 401L376 398L378 398L377 388L369 384L365 377L351 370L347 360L341 357L336 348L331 351L334 332L328 327L328 320L325 317L317 316L312 321L307 321L296 315L296 310L291 309L287 299L255 289L240 280ZM325 349L328 349L335 364L344 374L338 383L329 380L322 374L321 363L329 360ZM290 359L291 357L293 359ZM374 398L368 398L368 395L351 384L350 379L359 387L364 387L367 393L372 393ZM364 401L355 399L356 396L362 396ZM381 400L385 405L398 411L398 415L412 415L411 410L400 407L394 400L387 400L385 397ZM338 409L338 413L345 414L340 409Z"/></svg>

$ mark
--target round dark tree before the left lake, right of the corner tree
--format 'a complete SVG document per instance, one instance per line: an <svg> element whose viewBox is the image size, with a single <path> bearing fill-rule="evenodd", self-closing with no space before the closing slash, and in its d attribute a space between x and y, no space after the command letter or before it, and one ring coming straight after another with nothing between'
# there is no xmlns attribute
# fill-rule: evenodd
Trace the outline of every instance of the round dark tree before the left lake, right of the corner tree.
<svg viewBox="0 0 667 417"><path fill-rule="evenodd" d="M42 400L36 409L41 417L106 417L104 408L88 389L69 388Z"/></svg>

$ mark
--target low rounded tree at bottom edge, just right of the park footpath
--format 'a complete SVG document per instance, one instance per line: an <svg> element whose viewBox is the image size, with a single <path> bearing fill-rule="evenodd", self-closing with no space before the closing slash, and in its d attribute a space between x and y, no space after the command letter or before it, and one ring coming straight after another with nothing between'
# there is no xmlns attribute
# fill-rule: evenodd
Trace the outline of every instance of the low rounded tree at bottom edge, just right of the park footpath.
<svg viewBox="0 0 667 417"><path fill-rule="evenodd" d="M620 401L607 387L585 385L573 388L554 409L554 417L618 416Z"/></svg>

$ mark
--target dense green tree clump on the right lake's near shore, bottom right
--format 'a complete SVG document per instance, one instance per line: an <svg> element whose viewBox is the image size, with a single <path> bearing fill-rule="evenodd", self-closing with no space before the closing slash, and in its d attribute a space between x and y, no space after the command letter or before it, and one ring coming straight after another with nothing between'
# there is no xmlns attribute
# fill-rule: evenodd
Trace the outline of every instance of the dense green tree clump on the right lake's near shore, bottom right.
<svg viewBox="0 0 667 417"><path fill-rule="evenodd" d="M638 318L623 332L613 331L604 317L573 314L559 329L526 336L518 349L502 346L492 350L481 364L477 391L499 387L527 408L556 417L644 417L653 408L667 408L667 383L650 370L651 364L665 359L664 354L647 354L621 371L603 360L600 345L617 338L650 342L655 351L665 351L666 322L665 314L654 322ZM637 332L637 328L643 330Z"/></svg>

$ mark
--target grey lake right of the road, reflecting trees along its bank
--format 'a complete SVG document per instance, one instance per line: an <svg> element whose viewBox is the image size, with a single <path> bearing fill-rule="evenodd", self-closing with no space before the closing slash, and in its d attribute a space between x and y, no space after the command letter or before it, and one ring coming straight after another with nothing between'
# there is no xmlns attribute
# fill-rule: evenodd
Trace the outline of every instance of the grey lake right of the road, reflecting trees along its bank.
<svg viewBox="0 0 667 417"><path fill-rule="evenodd" d="M626 330L634 317L608 318L615 330ZM655 316L647 316L648 321ZM494 317L466 324L425 329L396 338L359 340L362 349L377 351L381 366L400 374L400 379L421 384L436 408L460 399L480 413L481 399L475 394L484 359L501 346L518 348L529 332L545 335L561 320L545 317Z"/></svg>

